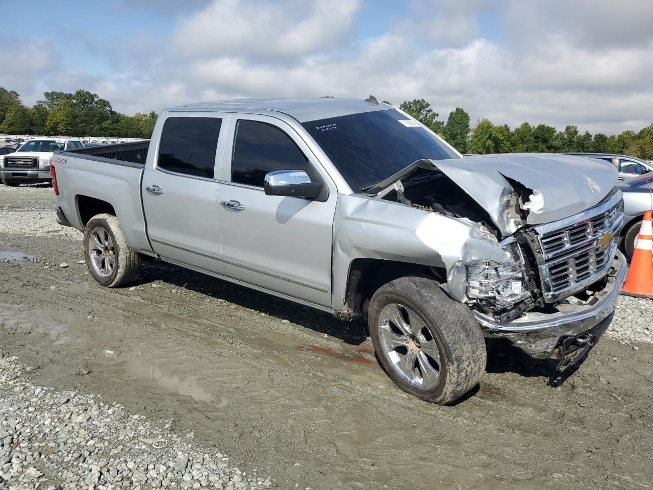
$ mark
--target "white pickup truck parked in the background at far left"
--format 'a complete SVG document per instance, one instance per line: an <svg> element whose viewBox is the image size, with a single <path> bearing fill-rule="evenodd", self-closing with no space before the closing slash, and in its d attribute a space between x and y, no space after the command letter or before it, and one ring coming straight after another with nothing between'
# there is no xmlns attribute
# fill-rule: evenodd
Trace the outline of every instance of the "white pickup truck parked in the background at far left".
<svg viewBox="0 0 653 490"><path fill-rule="evenodd" d="M49 182L52 154L63 150L84 148L76 139L31 139L11 155L0 159L0 180L5 186Z"/></svg>

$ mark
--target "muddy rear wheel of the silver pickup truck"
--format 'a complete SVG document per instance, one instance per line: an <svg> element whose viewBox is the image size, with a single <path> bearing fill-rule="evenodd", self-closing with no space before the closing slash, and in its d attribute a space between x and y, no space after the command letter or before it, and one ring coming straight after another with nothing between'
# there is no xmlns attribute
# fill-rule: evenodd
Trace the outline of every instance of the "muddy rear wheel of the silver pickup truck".
<svg viewBox="0 0 653 490"><path fill-rule="evenodd" d="M129 248L112 214L96 214L86 223L84 259L93 279L104 287L126 286L138 279L140 255Z"/></svg>

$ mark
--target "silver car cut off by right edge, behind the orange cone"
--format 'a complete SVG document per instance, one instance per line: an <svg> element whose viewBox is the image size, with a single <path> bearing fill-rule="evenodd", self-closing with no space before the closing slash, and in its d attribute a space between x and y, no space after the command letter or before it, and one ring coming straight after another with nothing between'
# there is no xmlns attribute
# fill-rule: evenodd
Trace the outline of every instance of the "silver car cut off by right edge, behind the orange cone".
<svg viewBox="0 0 653 490"><path fill-rule="evenodd" d="M644 213L653 209L653 173L637 176L620 182L618 187L624 193L624 228L622 248L630 259L635 248Z"/></svg>

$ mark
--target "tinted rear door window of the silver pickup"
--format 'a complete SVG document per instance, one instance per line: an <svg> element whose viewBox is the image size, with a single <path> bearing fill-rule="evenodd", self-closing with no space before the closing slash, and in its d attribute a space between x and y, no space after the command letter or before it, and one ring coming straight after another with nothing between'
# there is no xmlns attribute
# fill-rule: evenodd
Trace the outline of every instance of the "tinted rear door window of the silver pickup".
<svg viewBox="0 0 653 490"><path fill-rule="evenodd" d="M157 165L212 178L221 125L219 118L168 118L161 132Z"/></svg>

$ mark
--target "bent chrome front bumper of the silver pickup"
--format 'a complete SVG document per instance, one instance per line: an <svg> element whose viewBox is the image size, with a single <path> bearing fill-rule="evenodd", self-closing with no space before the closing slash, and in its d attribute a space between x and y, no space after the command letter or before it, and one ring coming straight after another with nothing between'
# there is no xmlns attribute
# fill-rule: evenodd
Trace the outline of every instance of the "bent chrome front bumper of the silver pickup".
<svg viewBox="0 0 653 490"><path fill-rule="evenodd" d="M607 273L607 284L587 304L560 304L555 313L528 312L499 325L490 316L474 312L488 337L509 339L532 357L546 359L555 355L563 338L580 335L611 318L626 276L626 259L618 250ZM605 331L605 329L603 330ZM601 332L603 333L603 332Z"/></svg>

